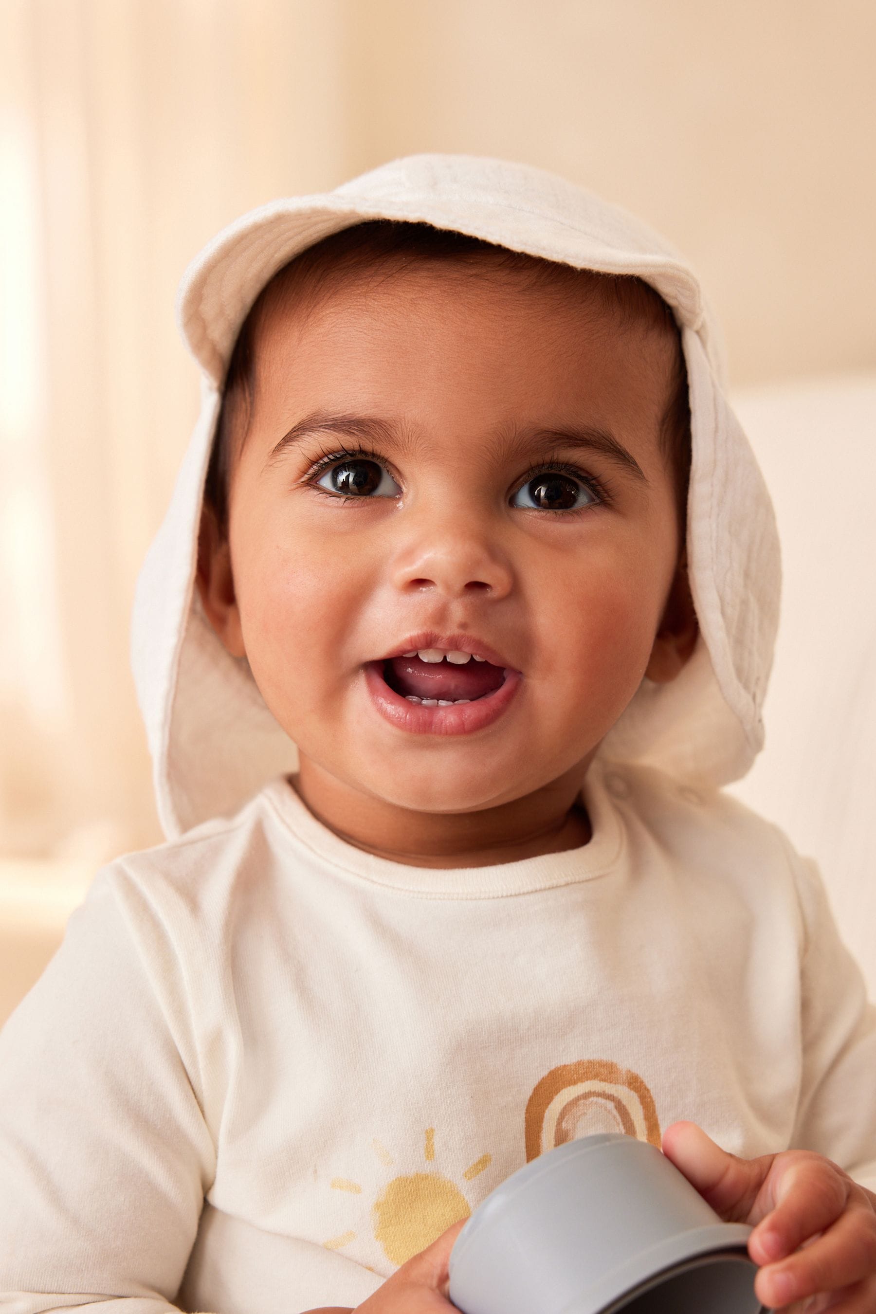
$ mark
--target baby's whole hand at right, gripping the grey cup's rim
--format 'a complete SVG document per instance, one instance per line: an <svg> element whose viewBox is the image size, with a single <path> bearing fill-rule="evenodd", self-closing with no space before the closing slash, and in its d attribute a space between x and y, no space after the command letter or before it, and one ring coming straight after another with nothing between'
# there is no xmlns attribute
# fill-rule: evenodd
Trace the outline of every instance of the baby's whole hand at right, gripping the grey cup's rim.
<svg viewBox="0 0 876 1314"><path fill-rule="evenodd" d="M835 1163L809 1150L737 1159L693 1122L667 1127L663 1154L725 1221L754 1226L763 1305L873 1314L876 1196Z"/></svg>

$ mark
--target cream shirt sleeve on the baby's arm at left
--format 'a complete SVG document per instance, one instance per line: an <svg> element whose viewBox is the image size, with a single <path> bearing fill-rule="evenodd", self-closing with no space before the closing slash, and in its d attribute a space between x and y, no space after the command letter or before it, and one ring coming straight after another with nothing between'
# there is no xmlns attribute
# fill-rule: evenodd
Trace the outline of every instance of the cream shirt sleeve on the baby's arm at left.
<svg viewBox="0 0 876 1314"><path fill-rule="evenodd" d="M184 982L106 869L0 1033L1 1310L173 1309L215 1173Z"/></svg>

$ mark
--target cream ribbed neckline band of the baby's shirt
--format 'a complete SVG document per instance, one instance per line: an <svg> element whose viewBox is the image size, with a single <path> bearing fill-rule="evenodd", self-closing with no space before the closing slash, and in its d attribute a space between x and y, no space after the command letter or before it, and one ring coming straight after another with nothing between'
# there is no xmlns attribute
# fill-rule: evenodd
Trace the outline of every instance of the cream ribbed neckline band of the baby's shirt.
<svg viewBox="0 0 876 1314"><path fill-rule="evenodd" d="M285 777L271 781L263 795L296 838L317 857L370 884L431 899L496 899L592 880L608 875L617 866L624 846L623 821L598 763L591 766L580 791L592 827L588 844L565 853L546 853L489 867L410 867L378 858L323 825Z"/></svg>

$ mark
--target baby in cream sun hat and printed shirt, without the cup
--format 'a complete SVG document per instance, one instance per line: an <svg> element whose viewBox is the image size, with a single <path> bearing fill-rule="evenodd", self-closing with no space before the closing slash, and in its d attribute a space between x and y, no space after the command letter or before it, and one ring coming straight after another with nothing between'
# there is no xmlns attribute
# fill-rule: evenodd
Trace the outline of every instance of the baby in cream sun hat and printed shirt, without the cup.
<svg viewBox="0 0 876 1314"><path fill-rule="evenodd" d="M8 1307L449 1311L474 1206L623 1131L754 1225L764 1305L872 1314L876 1010L720 792L779 566L691 271L415 156L247 215L181 317L134 633L168 842L3 1033Z"/></svg>

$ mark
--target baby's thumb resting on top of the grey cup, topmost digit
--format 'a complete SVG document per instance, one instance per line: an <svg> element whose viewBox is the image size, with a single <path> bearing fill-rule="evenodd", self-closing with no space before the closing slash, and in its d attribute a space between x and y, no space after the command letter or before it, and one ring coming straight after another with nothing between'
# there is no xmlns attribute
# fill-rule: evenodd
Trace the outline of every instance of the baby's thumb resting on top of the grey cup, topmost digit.
<svg viewBox="0 0 876 1314"><path fill-rule="evenodd" d="M674 1122L663 1133L663 1154L725 1222L759 1222L758 1193L775 1155L738 1159L695 1122Z"/></svg>

